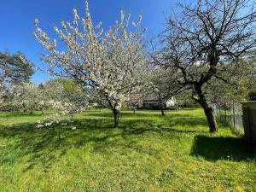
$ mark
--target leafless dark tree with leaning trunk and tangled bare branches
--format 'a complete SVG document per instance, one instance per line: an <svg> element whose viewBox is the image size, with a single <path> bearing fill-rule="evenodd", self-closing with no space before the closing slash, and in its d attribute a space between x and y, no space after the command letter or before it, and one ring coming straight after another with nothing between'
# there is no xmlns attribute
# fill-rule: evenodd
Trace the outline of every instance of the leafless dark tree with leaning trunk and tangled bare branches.
<svg viewBox="0 0 256 192"><path fill-rule="evenodd" d="M161 36L163 49L154 59L177 71L177 83L189 87L192 98L204 109L210 132L218 125L207 101L205 86L221 76L225 65L240 65L256 48L256 12L253 1L198 0L179 4L180 10L166 20Z"/></svg>

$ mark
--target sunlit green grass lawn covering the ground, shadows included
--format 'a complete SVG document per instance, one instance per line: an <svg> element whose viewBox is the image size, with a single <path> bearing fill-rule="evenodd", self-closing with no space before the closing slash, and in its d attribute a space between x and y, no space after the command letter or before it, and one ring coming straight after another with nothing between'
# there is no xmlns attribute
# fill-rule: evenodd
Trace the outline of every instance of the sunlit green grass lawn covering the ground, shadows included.
<svg viewBox="0 0 256 192"><path fill-rule="evenodd" d="M0 191L256 191L256 155L201 109L79 114L36 128L40 113L0 113Z"/></svg>

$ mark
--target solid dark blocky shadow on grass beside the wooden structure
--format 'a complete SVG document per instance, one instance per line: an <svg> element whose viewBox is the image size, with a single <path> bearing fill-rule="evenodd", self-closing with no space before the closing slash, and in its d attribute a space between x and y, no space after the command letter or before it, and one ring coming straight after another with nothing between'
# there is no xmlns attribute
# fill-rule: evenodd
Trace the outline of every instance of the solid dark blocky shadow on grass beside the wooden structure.
<svg viewBox="0 0 256 192"><path fill-rule="evenodd" d="M241 137L196 136L190 154L209 161L256 160L256 154L248 151Z"/></svg>

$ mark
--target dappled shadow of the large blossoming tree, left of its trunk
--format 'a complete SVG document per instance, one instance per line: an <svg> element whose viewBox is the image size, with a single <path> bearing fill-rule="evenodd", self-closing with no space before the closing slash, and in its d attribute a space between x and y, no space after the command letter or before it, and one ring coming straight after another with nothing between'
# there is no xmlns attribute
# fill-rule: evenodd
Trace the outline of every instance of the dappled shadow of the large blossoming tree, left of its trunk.
<svg viewBox="0 0 256 192"><path fill-rule="evenodd" d="M70 148L79 148L84 143L98 143L107 139L100 135L103 131L110 130L111 126L108 121L103 121L86 119L85 124L76 122L66 126L52 125L43 128L37 128L35 123L0 126L0 139L8 138L11 141L11 144L7 143L0 148L0 152L6 154L0 158L0 165L19 162L28 156L28 166L24 171L32 169L38 163L48 169L52 162L66 154ZM72 130L74 125L77 130ZM9 151L14 151L15 155L9 155Z"/></svg>

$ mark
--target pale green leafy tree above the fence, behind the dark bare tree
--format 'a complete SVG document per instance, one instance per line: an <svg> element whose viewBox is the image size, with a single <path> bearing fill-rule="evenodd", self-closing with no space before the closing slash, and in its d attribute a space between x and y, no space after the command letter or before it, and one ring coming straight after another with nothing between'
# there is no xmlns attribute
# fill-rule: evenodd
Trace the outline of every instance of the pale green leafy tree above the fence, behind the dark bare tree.
<svg viewBox="0 0 256 192"><path fill-rule="evenodd" d="M205 86L205 93L209 102L217 104L218 107L226 110L230 109L234 102L245 102L249 92L253 89L255 80L253 78L253 65L240 63L239 66L226 64L225 68L218 73L225 79L212 78Z"/></svg>

